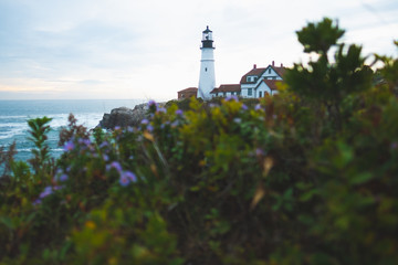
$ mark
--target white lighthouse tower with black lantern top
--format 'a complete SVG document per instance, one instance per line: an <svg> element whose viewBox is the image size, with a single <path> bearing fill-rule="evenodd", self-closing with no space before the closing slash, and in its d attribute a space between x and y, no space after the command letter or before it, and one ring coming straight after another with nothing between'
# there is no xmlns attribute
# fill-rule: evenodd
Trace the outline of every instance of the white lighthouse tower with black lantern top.
<svg viewBox="0 0 398 265"><path fill-rule="evenodd" d="M214 47L212 40L212 31L209 26L206 28L202 34L202 51L200 60L200 76L197 97L203 99L210 99L210 92L216 87L216 75L214 75Z"/></svg>

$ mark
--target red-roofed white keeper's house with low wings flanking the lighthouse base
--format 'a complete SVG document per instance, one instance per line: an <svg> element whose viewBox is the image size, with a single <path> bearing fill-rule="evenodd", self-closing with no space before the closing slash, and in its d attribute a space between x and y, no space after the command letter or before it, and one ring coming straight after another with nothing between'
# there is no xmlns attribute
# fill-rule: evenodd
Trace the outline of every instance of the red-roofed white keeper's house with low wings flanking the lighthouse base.
<svg viewBox="0 0 398 265"><path fill-rule="evenodd" d="M265 95L274 95L277 93L277 83L283 82L285 67L275 66L274 62L266 67L256 67L249 71L242 76L240 84L224 84L214 87L211 97L226 97L237 95L245 98L259 98ZM190 87L178 92L178 98L186 98L195 95L198 88Z"/></svg>

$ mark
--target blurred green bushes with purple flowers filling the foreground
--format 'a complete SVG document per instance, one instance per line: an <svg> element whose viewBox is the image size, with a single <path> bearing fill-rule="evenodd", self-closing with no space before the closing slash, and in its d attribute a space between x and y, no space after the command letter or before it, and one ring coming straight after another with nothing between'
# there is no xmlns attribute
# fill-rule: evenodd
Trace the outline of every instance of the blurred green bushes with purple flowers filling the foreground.
<svg viewBox="0 0 398 265"><path fill-rule="evenodd" d="M56 160L30 120L32 160L0 150L0 264L398 264L398 60L343 34L300 30L315 60L272 97L71 116Z"/></svg>

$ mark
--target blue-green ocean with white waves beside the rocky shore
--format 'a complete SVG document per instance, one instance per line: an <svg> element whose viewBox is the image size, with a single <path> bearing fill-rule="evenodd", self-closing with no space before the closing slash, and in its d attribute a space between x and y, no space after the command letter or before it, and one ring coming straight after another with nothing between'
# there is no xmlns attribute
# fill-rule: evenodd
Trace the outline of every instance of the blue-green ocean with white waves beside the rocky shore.
<svg viewBox="0 0 398 265"><path fill-rule="evenodd" d="M145 103L145 99L92 99L92 100L0 100L0 146L9 147L17 142L17 160L28 160L32 157L32 142L28 140L29 126L27 120L46 116L52 118L49 146L53 157L59 157L63 149L57 147L59 134L66 126L72 113L78 125L88 129L95 128L104 113L113 108L129 107Z"/></svg>

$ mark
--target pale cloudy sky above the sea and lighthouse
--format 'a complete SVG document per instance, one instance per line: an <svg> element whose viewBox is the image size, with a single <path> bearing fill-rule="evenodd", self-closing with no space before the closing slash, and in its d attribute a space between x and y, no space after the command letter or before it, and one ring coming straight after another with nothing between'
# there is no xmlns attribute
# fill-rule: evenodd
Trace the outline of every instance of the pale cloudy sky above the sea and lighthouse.
<svg viewBox="0 0 398 265"><path fill-rule="evenodd" d="M397 56L397 0L0 0L0 99L176 98L198 86L207 25L217 85L238 84L307 62L295 31L324 17L364 55Z"/></svg>

